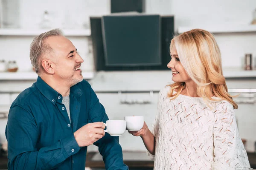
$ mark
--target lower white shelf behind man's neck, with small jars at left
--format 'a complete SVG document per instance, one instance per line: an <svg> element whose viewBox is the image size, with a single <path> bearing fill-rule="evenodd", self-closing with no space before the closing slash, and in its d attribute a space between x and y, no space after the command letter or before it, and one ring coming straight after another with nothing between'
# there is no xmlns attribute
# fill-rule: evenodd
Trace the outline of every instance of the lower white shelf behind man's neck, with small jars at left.
<svg viewBox="0 0 256 170"><path fill-rule="evenodd" d="M92 71L82 71L84 79L93 79L94 73ZM38 75L35 72L2 72L0 73L0 80L36 80Z"/></svg>

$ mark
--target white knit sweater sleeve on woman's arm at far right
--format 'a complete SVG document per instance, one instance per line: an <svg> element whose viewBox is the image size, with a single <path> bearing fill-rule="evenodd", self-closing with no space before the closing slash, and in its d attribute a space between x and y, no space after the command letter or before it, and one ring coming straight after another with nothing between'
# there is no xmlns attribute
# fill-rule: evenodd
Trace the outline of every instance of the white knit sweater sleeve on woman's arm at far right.
<svg viewBox="0 0 256 170"><path fill-rule="evenodd" d="M250 167L246 150L239 136L233 105L223 101L214 111L214 163L212 170L233 170Z"/></svg>

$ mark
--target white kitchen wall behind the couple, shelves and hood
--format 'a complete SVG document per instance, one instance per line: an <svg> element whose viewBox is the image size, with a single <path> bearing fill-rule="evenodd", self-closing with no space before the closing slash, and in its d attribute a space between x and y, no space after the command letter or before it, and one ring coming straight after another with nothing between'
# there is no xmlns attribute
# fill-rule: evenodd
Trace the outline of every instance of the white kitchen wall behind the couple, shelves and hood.
<svg viewBox="0 0 256 170"><path fill-rule="evenodd" d="M252 20L252 12L256 8L255 0L145 0L145 11L155 14L174 14L175 28L179 26L207 26L225 27L237 26L237 24L249 24ZM40 5L38 5L40 3ZM52 17L53 28L64 28L65 18L69 16L75 28L88 28L90 15L102 15L110 13L109 0L75 0L72 3L67 0L20 0L20 26L26 29L39 27L42 15L45 10L49 11ZM256 32L250 33L221 33L215 34L218 45L221 49L223 67L240 69L245 53L252 53L256 57ZM93 71L93 55L90 51L89 37L68 37L78 48L81 57L84 59L83 71ZM29 60L29 45L33 37L30 36L0 36L0 59L16 60L19 71L31 71L32 66ZM256 60L256 59L255 59ZM231 62L232 61L232 62ZM168 71L135 71L135 72L98 72L95 78L90 80L96 91L118 91L118 90L155 90L163 88L171 80L171 73ZM0 81L1 91L22 91L29 87L34 81ZM228 79L229 88L256 88L256 79ZM128 95L128 94L127 94ZM0 105L8 105L15 99L17 94L0 94ZM106 111L111 119L122 119L126 115L144 115L148 125L154 119L157 107L158 94L154 93L150 105L120 105L117 94L98 93L100 101L105 105ZM129 94L129 98L146 98L148 94ZM111 98L111 103L109 98ZM113 105L114 104L114 105ZM250 114L248 120L247 111L244 116L239 112L239 130L242 137L249 138L248 150L254 150L253 137L249 128L242 130L243 125L256 127L255 114ZM6 119L0 119L0 143L4 142L4 130ZM129 135L127 132L120 137L120 143L124 150L145 150L140 138ZM131 147L132 146L132 147ZM89 150L95 150L90 147Z"/></svg>

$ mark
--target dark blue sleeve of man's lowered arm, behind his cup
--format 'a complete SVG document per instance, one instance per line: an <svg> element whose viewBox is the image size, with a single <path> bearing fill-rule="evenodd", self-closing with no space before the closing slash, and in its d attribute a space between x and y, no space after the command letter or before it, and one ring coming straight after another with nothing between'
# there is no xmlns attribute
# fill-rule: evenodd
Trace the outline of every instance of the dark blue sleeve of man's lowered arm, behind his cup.
<svg viewBox="0 0 256 170"><path fill-rule="evenodd" d="M99 102L91 87L89 119L91 122L106 122L108 120L105 108ZM123 163L122 147L118 139L118 136L110 136L108 133L105 133L102 139L94 143L94 145L99 147L99 153L103 157L106 170L128 170L128 166Z"/></svg>

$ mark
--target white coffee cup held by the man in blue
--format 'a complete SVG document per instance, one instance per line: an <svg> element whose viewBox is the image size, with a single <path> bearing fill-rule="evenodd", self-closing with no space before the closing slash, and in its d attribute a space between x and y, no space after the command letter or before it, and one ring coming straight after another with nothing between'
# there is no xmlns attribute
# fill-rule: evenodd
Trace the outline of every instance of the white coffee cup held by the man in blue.
<svg viewBox="0 0 256 170"><path fill-rule="evenodd" d="M105 123L107 130L104 130L111 136L121 136L125 133L126 122L125 120L107 120Z"/></svg>

